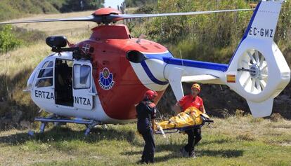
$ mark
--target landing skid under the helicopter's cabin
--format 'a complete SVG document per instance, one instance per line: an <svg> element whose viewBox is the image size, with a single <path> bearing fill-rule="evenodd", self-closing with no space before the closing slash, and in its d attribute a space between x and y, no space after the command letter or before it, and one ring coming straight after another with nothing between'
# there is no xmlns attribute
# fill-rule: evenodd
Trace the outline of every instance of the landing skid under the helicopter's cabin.
<svg viewBox="0 0 291 166"><path fill-rule="evenodd" d="M95 121L95 120L86 120L82 118L63 118L63 117L58 117L56 115L51 115L48 117L39 117L39 118L34 118L34 121L39 121L41 122L41 126L39 127L39 133L43 133L44 129L46 128L47 123L54 123L55 125L63 125L66 123L76 123L76 124L83 124L86 125L86 130L85 130L85 136L87 136L91 129L95 127L96 125L101 125L100 122ZM30 134L31 132L29 132Z"/></svg>

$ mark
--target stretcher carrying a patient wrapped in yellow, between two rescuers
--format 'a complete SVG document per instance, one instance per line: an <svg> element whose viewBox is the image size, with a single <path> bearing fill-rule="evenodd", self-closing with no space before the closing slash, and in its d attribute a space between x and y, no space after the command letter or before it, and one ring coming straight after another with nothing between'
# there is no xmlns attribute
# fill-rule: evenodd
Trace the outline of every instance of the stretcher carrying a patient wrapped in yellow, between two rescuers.
<svg viewBox="0 0 291 166"><path fill-rule="evenodd" d="M156 134L183 132L192 128L202 127L205 123L213 122L206 113L202 113L195 107L190 107L167 121L156 123L155 130Z"/></svg>

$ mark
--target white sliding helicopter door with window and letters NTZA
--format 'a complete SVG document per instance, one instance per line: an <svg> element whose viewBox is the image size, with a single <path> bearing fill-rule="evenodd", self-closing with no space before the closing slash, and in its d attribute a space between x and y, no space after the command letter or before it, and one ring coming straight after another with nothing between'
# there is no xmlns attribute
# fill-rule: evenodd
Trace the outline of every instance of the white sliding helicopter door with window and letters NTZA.
<svg viewBox="0 0 291 166"><path fill-rule="evenodd" d="M93 108L92 64L89 61L76 61L73 65L74 107L79 109Z"/></svg>

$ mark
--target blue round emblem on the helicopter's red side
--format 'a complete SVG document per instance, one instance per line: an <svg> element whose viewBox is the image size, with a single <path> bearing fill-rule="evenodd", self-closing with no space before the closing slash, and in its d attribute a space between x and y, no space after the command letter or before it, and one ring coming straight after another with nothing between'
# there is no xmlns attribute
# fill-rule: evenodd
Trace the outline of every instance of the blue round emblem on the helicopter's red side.
<svg viewBox="0 0 291 166"><path fill-rule="evenodd" d="M110 90L113 85L113 74L110 73L109 69L105 67L99 75L99 85L103 90Z"/></svg>

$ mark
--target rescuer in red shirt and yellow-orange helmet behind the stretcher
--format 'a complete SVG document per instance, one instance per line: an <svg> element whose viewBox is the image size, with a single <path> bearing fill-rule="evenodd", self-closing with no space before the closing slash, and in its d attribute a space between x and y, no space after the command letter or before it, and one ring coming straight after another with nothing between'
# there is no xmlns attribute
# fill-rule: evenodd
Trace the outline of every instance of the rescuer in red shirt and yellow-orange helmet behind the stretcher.
<svg viewBox="0 0 291 166"><path fill-rule="evenodd" d="M178 113L181 111L183 112L190 106L195 106L197 109L202 111L202 113L206 113L203 105L203 100L201 99L201 97L198 96L200 91L200 85L198 83L194 83L191 87L191 94L184 96L182 99L179 100L179 102L176 103L176 111ZM188 134L188 144L181 148L180 151L183 156L195 158L194 146L198 144L198 142L202 139L201 128L190 129L186 130L185 132L186 134Z"/></svg>

